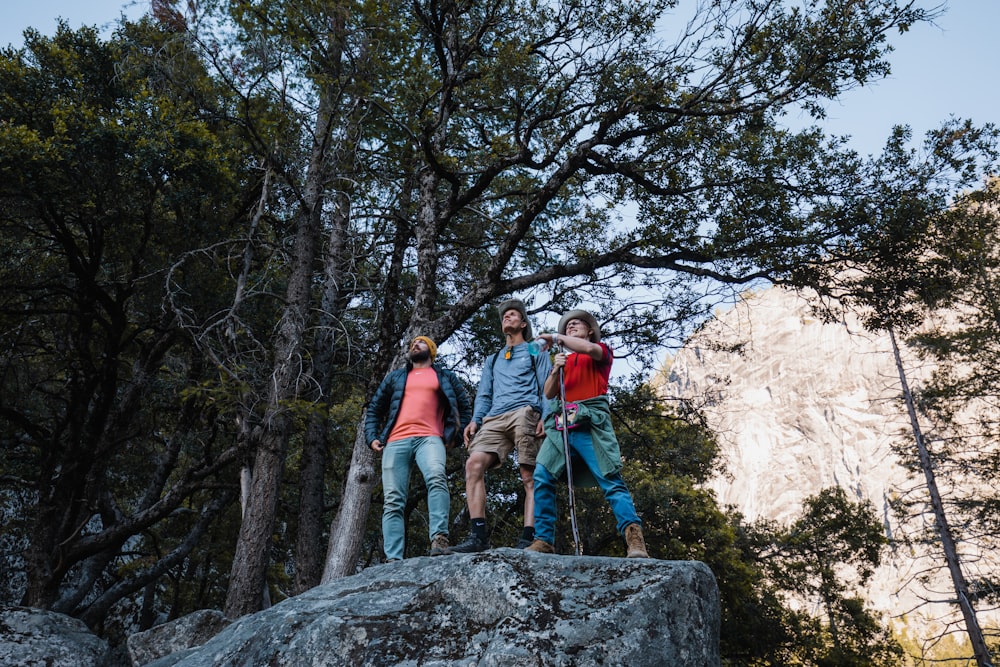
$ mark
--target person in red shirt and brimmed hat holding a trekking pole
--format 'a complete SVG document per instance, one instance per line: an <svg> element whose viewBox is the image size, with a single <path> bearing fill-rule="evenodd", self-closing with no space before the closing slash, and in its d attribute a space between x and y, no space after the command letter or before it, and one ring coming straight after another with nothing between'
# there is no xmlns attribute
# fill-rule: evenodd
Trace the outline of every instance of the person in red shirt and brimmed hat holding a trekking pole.
<svg viewBox="0 0 1000 667"><path fill-rule="evenodd" d="M614 359L611 348L601 342L601 327L585 310L571 310L559 320L558 334L540 334L549 345L562 345L552 360L552 373L545 380L545 397L560 395L559 370L566 383L566 404L575 404L567 419L573 480L582 486L599 486L611 505L618 532L625 538L629 558L649 558L642 536L642 522L632 494L622 479L622 457L611 426L608 378ZM545 441L535 461L535 541L528 551L555 553L556 488L566 472L563 432L557 428L562 408L552 407L545 419ZM579 471L579 472L578 472Z"/></svg>

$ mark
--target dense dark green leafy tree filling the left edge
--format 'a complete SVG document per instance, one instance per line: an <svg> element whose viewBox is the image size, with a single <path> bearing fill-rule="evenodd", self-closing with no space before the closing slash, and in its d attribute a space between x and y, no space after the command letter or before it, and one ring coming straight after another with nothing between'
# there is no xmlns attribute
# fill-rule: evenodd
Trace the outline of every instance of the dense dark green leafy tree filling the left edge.
<svg viewBox="0 0 1000 667"><path fill-rule="evenodd" d="M243 213L241 142L213 122L226 100L197 59L148 24L108 43L29 32L0 59L0 433L4 484L33 500L22 602L96 627L235 497L219 474L237 450L185 399L206 367L161 303L188 244ZM222 278L175 279L209 301Z"/></svg>

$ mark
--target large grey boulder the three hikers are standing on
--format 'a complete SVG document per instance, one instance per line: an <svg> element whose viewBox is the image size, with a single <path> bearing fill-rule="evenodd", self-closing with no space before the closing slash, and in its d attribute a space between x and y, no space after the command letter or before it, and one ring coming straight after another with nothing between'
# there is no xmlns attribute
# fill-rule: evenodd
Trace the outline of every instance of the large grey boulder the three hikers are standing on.
<svg viewBox="0 0 1000 667"><path fill-rule="evenodd" d="M371 567L242 618L154 667L713 667L702 563L514 549Z"/></svg>

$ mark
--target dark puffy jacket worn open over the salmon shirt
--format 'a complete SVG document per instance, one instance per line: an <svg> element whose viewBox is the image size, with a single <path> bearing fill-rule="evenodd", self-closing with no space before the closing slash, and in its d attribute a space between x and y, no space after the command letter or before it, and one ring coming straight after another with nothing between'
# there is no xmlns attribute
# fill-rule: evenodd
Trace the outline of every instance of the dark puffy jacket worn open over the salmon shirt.
<svg viewBox="0 0 1000 667"><path fill-rule="evenodd" d="M406 389L406 376L410 372L410 365L404 368L397 368L390 372L382 380L382 384L375 390L371 403L368 404L368 412L365 415L365 442L370 447L372 441L379 440L385 444L386 438L396 424L396 417L399 416L399 406L403 402L403 390ZM438 390L438 398L444 401L444 444L451 447L456 437L460 437L462 431L472 420L472 402L465 387L458 377L447 368L432 365L431 368L437 373L438 383L441 389ZM379 426L381 425L381 429Z"/></svg>

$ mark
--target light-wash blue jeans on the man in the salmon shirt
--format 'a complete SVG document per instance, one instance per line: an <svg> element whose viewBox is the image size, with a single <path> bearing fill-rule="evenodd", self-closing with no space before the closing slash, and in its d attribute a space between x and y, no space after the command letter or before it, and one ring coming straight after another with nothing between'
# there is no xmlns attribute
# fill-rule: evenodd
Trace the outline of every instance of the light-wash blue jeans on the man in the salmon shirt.
<svg viewBox="0 0 1000 667"><path fill-rule="evenodd" d="M437 436L404 438L387 443L382 450L382 542L386 559L402 558L406 527L403 510L410 492L410 465L416 461L427 485L429 537L448 534L448 477L445 474L444 442Z"/></svg>

